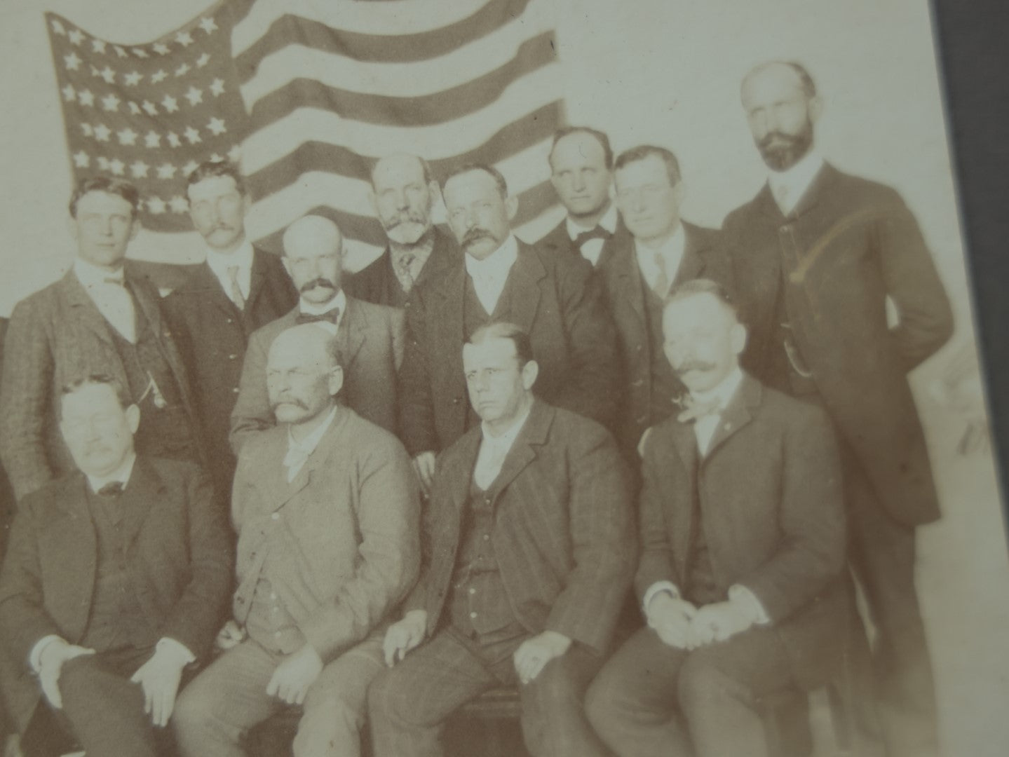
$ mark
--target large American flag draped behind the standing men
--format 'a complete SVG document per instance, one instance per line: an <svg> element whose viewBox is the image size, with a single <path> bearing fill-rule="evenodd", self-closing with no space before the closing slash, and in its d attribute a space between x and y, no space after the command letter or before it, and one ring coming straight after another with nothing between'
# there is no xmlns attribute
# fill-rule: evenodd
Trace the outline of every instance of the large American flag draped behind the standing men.
<svg viewBox="0 0 1009 757"><path fill-rule="evenodd" d="M142 44L45 19L75 177L134 181L144 228L170 240L192 231L185 176L207 159L240 163L260 245L278 251L288 224L319 213L351 241L351 268L384 246L368 170L394 151L436 176L495 164L524 238L557 220L552 0L222 0Z"/></svg>

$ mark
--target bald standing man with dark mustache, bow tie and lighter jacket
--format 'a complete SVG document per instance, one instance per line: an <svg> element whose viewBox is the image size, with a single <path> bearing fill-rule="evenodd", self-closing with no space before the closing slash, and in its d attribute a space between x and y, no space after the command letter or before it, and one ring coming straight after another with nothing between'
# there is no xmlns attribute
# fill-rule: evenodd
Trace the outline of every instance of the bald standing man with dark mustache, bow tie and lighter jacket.
<svg viewBox="0 0 1009 757"><path fill-rule="evenodd" d="M273 425L266 394L270 344L281 332L311 322L322 323L336 334L343 356L343 403L395 433L403 311L355 299L343 291L343 236L329 219L309 215L289 226L284 233L283 260L300 297L293 310L249 339L238 400L231 413L235 455L250 436Z"/></svg>

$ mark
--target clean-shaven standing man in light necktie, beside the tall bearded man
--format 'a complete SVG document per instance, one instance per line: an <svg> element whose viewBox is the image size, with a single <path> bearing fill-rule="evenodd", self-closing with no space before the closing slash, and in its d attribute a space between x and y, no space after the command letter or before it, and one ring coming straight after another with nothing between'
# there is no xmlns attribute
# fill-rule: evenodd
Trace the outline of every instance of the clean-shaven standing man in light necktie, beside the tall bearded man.
<svg viewBox="0 0 1009 757"><path fill-rule="evenodd" d="M613 237L599 278L625 371L616 437L637 460L645 430L668 418L685 393L662 351L662 302L670 287L693 278L728 285L731 265L717 231L680 218L683 180L671 151L641 145L622 152L615 183L628 231Z"/></svg>

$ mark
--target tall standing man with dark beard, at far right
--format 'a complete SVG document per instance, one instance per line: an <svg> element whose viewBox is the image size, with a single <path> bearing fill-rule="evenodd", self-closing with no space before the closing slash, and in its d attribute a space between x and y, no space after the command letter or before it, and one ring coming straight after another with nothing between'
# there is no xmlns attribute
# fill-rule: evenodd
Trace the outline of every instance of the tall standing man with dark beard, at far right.
<svg viewBox="0 0 1009 757"><path fill-rule="evenodd" d="M724 225L751 329L744 363L764 383L823 405L837 427L850 558L878 630L888 747L892 755L934 755L914 535L939 508L907 372L951 335L949 301L897 193L843 173L815 149L822 106L805 69L758 66L742 96L770 169Z"/></svg>

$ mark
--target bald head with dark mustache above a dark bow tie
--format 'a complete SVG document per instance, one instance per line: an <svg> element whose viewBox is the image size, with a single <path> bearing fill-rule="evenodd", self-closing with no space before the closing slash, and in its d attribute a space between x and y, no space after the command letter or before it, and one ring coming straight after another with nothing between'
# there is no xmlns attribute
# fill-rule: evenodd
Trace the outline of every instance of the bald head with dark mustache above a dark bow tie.
<svg viewBox="0 0 1009 757"><path fill-rule="evenodd" d="M284 267L302 299L323 305L340 291L343 236L322 216L305 216L284 232Z"/></svg>

